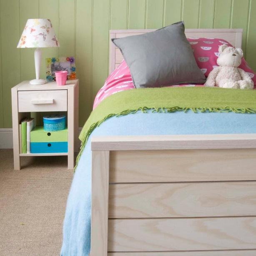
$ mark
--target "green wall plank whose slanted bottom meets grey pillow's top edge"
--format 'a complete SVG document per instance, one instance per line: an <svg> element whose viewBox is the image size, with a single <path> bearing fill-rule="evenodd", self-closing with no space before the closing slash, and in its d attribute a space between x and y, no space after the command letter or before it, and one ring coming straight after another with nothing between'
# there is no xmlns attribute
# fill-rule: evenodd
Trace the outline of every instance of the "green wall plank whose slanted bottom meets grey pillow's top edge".
<svg viewBox="0 0 256 256"><path fill-rule="evenodd" d="M165 0L164 26L171 25L181 20L182 0Z"/></svg>

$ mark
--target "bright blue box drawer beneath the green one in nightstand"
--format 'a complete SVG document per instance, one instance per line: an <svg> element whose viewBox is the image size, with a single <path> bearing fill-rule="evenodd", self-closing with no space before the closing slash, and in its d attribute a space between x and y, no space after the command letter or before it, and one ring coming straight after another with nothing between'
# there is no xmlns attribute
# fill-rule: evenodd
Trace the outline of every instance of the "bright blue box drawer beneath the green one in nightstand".
<svg viewBox="0 0 256 256"><path fill-rule="evenodd" d="M68 153L68 142L31 142L31 153Z"/></svg>

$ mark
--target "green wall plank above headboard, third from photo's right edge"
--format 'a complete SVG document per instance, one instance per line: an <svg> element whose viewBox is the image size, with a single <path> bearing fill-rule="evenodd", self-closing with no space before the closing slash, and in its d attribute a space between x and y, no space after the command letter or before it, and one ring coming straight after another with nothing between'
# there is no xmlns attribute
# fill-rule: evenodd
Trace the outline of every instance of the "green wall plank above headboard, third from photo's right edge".
<svg viewBox="0 0 256 256"><path fill-rule="evenodd" d="M213 28L230 28L232 0L215 0Z"/></svg>

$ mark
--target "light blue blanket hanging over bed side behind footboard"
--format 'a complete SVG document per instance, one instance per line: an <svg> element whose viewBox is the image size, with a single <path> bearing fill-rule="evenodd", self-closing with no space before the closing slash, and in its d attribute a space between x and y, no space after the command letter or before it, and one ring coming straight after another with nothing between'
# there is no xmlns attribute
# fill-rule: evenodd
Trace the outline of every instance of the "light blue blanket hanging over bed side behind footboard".
<svg viewBox="0 0 256 256"><path fill-rule="evenodd" d="M106 120L90 135L78 163L63 225L61 256L87 256L90 252L92 136L256 133L256 114L141 113Z"/></svg>

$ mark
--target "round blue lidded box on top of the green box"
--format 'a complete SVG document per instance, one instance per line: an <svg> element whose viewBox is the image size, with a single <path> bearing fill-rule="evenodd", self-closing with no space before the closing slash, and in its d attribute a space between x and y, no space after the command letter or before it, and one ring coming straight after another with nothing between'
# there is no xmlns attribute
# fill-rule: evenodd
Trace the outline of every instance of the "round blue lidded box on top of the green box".
<svg viewBox="0 0 256 256"><path fill-rule="evenodd" d="M43 117L43 129L48 132L61 131L66 128L65 115L47 115Z"/></svg>

